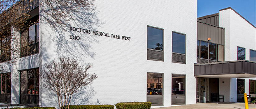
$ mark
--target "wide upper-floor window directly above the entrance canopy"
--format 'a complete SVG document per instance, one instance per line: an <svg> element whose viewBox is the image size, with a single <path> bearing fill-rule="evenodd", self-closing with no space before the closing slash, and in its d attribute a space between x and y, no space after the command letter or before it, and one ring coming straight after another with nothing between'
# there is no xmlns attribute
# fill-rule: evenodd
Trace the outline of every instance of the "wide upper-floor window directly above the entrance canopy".
<svg viewBox="0 0 256 109"><path fill-rule="evenodd" d="M197 40L197 63L224 61L224 46Z"/></svg>

